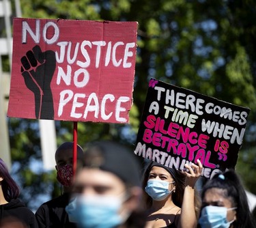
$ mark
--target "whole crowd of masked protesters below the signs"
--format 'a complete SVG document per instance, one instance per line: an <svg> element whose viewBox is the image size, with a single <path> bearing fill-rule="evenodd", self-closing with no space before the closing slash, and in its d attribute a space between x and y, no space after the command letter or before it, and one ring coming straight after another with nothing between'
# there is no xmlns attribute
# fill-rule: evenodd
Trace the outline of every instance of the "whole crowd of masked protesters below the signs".
<svg viewBox="0 0 256 228"><path fill-rule="evenodd" d="M179 171L151 160L141 164L130 149L113 141L89 143L85 152L80 145L76 149L74 176L73 143L58 147L63 194L35 214L18 199L20 188L0 158L0 228L256 227L233 170L216 174L197 190L200 160Z"/></svg>

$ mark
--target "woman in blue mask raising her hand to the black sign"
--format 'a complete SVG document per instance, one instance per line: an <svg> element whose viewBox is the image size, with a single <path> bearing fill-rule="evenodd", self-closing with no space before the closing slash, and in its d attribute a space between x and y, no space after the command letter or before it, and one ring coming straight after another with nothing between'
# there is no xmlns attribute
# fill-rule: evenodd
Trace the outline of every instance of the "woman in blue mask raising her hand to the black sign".
<svg viewBox="0 0 256 228"><path fill-rule="evenodd" d="M177 171L150 162L145 169L143 189L147 209L146 228L196 227L199 199L195 190L202 165L185 165L187 171ZM198 205L196 207L195 205Z"/></svg>

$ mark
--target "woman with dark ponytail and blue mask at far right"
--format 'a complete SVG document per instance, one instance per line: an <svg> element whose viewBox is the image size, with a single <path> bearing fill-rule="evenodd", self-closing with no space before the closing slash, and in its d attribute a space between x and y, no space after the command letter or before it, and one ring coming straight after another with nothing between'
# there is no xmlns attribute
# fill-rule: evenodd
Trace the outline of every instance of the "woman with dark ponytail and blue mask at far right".
<svg viewBox="0 0 256 228"><path fill-rule="evenodd" d="M217 174L203 186L201 228L251 228L253 219L240 178L233 170Z"/></svg>

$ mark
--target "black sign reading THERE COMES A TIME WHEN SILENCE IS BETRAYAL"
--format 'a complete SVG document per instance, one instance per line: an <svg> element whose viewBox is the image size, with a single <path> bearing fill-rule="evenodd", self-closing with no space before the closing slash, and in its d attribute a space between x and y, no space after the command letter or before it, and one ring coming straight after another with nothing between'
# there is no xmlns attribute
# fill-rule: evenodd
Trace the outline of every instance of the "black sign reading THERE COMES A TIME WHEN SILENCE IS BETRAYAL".
<svg viewBox="0 0 256 228"><path fill-rule="evenodd" d="M134 153L180 170L199 159L211 178L236 166L249 111L151 79Z"/></svg>

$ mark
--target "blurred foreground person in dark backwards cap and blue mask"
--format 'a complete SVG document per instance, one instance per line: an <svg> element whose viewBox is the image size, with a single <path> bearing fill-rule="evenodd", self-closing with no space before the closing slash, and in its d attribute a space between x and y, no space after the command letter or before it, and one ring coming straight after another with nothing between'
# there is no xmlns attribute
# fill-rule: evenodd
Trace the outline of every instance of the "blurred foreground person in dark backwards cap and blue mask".
<svg viewBox="0 0 256 228"><path fill-rule="evenodd" d="M112 141L91 143L66 207L80 228L144 227L141 168L132 150Z"/></svg>

